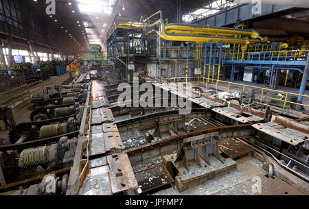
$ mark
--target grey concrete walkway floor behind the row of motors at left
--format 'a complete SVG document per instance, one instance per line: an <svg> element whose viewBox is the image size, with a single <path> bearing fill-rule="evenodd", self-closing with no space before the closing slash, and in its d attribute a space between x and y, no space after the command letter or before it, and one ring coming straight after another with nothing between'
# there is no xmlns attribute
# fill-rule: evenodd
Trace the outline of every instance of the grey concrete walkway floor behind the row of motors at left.
<svg viewBox="0 0 309 209"><path fill-rule="evenodd" d="M53 86L54 84L65 84L67 80L69 79L69 73L65 73L64 75L60 76L52 76L49 79L43 81L44 86ZM74 77L72 77L72 80ZM30 88L30 92L32 95L38 95L40 93L43 93L43 89L41 84L37 84L36 86L32 86ZM30 98L27 98L27 101L23 103L23 107L20 110L14 110L13 111L13 116L14 116L14 121L16 124L18 123L25 123L30 121L30 114L33 110L33 104L30 103ZM5 130L5 125L3 121L0 121L0 138L1 137L8 137L8 133L10 130Z"/></svg>

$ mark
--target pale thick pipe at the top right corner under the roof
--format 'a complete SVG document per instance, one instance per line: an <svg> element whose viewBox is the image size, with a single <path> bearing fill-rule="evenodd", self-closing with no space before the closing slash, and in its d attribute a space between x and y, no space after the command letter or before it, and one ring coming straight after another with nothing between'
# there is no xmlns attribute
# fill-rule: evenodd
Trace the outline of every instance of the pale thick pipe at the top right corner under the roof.
<svg viewBox="0 0 309 209"><path fill-rule="evenodd" d="M233 3L245 4L253 3L252 0L229 0ZM283 5L295 8L309 8L308 0L259 0L257 3L273 4L273 5Z"/></svg>

